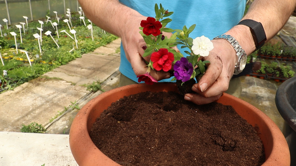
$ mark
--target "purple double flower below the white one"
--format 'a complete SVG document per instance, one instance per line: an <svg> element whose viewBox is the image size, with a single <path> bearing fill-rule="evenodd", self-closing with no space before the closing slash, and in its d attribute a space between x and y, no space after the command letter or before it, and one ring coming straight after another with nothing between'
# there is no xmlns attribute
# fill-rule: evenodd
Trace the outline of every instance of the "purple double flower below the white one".
<svg viewBox="0 0 296 166"><path fill-rule="evenodd" d="M193 66L188 62L187 58L182 57L180 61L176 61L174 65L174 76L182 82L186 82L190 79L193 73Z"/></svg>

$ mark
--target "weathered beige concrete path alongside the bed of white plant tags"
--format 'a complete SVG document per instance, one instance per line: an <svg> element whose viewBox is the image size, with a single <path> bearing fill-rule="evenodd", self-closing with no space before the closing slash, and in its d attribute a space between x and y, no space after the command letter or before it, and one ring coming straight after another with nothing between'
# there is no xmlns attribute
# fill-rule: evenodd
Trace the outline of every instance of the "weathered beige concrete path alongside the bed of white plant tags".
<svg viewBox="0 0 296 166"><path fill-rule="evenodd" d="M118 71L120 55L115 51L119 46L120 39L114 40L93 53L83 54L40 78L0 94L0 131L19 132L22 125L32 122L49 124L49 120L71 102L78 102L89 93L81 85L104 82Z"/></svg>

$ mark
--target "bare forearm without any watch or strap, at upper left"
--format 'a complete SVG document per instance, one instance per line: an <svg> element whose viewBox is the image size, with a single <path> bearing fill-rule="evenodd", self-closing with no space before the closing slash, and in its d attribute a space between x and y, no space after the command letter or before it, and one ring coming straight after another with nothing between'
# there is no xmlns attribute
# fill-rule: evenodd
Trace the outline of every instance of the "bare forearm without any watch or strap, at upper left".
<svg viewBox="0 0 296 166"><path fill-rule="evenodd" d="M118 0L78 0L83 12L95 25L119 37L123 27L134 16L141 16L135 10ZM139 23L140 25L140 23Z"/></svg>

